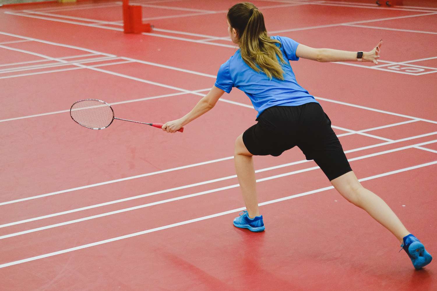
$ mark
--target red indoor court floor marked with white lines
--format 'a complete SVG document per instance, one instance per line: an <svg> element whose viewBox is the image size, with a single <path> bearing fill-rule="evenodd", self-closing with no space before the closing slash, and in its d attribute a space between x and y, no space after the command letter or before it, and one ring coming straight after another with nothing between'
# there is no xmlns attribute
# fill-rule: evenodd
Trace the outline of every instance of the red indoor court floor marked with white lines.
<svg viewBox="0 0 437 291"><path fill-rule="evenodd" d="M237 49L236 1L132 3L151 33L124 34L119 1L0 8L1 290L437 290L436 264L415 270L298 148L254 158L266 230L232 226L244 209L234 141L257 115L236 88L183 134L74 123L87 98L120 118L179 118ZM362 185L436 255L437 3L253 3L272 35L312 47L383 40L378 65L291 65Z"/></svg>

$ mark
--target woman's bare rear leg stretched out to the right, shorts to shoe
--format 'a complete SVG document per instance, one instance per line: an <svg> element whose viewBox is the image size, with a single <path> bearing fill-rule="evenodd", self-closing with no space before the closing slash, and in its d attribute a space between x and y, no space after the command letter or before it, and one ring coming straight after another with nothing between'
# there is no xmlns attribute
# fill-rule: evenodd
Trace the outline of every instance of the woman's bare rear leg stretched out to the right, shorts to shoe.
<svg viewBox="0 0 437 291"><path fill-rule="evenodd" d="M409 234L408 230L384 200L361 186L353 171L333 179L331 184L347 201L364 209L403 243L402 238Z"/></svg>

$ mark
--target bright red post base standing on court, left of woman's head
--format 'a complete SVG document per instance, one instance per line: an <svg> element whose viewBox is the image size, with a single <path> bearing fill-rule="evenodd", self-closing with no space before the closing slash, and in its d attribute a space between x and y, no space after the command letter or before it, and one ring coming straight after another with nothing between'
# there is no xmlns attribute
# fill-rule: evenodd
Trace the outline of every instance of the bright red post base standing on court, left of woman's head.
<svg viewBox="0 0 437 291"><path fill-rule="evenodd" d="M142 7L129 5L128 0L123 0L123 28L125 33L152 31L152 26L149 23L142 23Z"/></svg>

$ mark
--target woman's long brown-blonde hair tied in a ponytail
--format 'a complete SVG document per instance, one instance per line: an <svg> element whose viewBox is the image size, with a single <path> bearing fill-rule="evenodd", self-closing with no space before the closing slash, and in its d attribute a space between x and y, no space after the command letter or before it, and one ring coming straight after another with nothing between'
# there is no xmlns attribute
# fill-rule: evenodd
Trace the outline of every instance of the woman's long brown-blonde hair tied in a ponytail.
<svg viewBox="0 0 437 291"><path fill-rule="evenodd" d="M237 3L229 8L227 18L229 24L238 33L238 44L244 62L256 72L263 71L269 79L272 77L284 80L285 64L280 41L267 35L264 16L258 8L249 2ZM278 62L276 56L279 57Z"/></svg>

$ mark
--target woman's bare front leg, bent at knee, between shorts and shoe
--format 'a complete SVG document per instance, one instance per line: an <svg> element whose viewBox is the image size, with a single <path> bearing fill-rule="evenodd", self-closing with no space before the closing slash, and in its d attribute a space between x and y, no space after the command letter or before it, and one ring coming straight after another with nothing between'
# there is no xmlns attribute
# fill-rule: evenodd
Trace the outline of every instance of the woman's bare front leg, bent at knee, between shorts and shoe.
<svg viewBox="0 0 437 291"><path fill-rule="evenodd" d="M243 143L243 134L241 134L235 141L234 162L241 193L250 218L260 215L252 157L253 155L247 151Z"/></svg>

